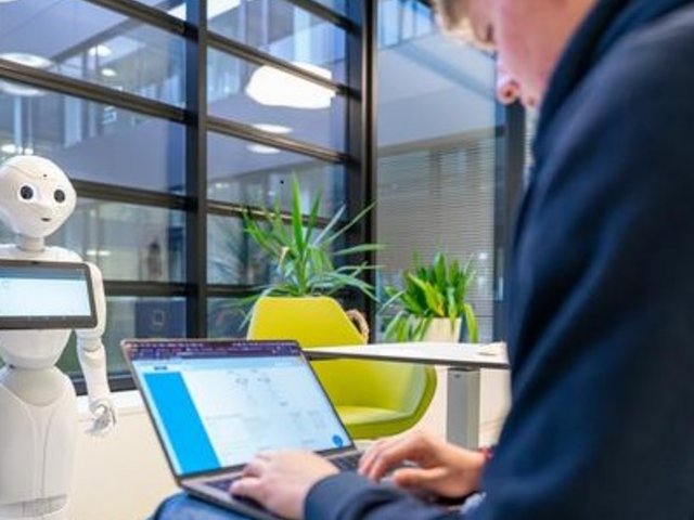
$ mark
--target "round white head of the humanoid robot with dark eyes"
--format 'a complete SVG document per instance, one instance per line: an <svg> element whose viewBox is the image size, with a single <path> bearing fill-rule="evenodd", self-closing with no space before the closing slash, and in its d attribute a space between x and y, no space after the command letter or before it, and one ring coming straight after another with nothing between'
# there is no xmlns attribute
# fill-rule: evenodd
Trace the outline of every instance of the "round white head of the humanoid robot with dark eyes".
<svg viewBox="0 0 694 520"><path fill-rule="evenodd" d="M43 238L75 209L77 195L57 166L33 155L0 166L0 221L17 235Z"/></svg>

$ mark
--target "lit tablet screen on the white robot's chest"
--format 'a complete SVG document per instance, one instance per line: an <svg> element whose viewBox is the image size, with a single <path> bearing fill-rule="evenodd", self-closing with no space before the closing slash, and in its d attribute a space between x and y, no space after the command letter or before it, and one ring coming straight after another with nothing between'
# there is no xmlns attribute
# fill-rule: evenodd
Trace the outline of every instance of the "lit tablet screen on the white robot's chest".
<svg viewBox="0 0 694 520"><path fill-rule="evenodd" d="M0 318L92 314L86 266L0 265Z"/></svg>

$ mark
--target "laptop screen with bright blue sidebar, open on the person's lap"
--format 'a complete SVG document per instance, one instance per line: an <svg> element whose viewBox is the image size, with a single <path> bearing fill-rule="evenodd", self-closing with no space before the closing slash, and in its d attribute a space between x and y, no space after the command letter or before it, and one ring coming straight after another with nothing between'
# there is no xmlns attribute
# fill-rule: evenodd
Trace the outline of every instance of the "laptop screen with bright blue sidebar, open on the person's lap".
<svg viewBox="0 0 694 520"><path fill-rule="evenodd" d="M178 477L351 445L294 342L139 342L129 356Z"/></svg>

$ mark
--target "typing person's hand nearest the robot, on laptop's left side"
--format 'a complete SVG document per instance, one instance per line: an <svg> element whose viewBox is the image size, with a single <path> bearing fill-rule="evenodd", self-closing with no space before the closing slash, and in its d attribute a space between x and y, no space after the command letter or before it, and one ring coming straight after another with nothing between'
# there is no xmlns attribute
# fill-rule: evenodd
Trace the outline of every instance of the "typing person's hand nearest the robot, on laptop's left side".
<svg viewBox="0 0 694 520"><path fill-rule="evenodd" d="M325 458L310 452L265 452L243 470L231 493L262 504L284 518L304 517L308 492L319 480L337 473Z"/></svg>

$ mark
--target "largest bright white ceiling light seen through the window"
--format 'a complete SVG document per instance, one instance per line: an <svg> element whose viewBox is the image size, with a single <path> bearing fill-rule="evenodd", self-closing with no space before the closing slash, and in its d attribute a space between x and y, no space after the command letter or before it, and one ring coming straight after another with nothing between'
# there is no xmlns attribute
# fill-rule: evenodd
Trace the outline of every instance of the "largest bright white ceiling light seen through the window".
<svg viewBox="0 0 694 520"><path fill-rule="evenodd" d="M310 63L294 65L322 78L332 79L326 68ZM246 86L246 94L266 106L287 106L291 108L329 108L335 98L335 91L294 76L279 68L264 65L256 69Z"/></svg>

